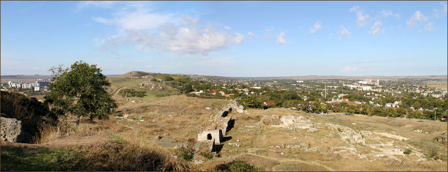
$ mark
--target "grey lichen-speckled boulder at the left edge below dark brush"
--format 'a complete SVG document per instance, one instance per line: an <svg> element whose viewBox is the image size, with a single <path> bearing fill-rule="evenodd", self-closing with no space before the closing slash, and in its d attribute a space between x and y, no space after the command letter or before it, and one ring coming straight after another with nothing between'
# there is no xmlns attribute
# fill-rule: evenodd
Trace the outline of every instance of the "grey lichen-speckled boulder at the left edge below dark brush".
<svg viewBox="0 0 448 172"><path fill-rule="evenodd" d="M22 121L15 118L0 117L1 141L13 143L29 143L31 135L23 130Z"/></svg>

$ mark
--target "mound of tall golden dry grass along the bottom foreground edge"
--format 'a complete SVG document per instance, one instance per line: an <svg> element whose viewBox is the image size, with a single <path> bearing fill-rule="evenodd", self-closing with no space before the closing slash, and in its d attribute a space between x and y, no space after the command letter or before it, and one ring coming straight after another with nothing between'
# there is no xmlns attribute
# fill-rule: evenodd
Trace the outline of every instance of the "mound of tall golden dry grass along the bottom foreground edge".
<svg viewBox="0 0 448 172"><path fill-rule="evenodd" d="M174 158L171 152L154 142L127 135L85 152L86 171L198 171L190 162Z"/></svg>

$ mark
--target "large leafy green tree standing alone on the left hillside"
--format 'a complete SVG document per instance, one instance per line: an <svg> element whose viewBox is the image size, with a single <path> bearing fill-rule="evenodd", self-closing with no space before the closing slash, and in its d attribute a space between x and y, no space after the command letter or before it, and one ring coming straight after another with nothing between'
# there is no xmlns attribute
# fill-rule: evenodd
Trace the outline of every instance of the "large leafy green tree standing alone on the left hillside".
<svg viewBox="0 0 448 172"><path fill-rule="evenodd" d="M44 98L52 107L51 113L57 117L73 115L77 117L107 118L118 108L116 101L106 91L110 87L107 77L96 65L80 61L65 68L52 67L51 92Z"/></svg>

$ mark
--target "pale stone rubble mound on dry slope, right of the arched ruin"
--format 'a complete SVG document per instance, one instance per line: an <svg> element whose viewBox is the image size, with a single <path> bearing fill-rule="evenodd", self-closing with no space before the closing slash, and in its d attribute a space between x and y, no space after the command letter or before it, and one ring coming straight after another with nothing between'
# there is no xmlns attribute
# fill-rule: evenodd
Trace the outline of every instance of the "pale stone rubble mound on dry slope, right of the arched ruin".
<svg viewBox="0 0 448 172"><path fill-rule="evenodd" d="M282 116L280 117L280 121L283 122L283 124L280 125L274 125L271 124L271 126L274 127L283 127L283 128L289 128L289 129L307 129L308 131L317 131L316 128L313 127L313 122L309 119L306 119L306 117L299 116Z"/></svg>

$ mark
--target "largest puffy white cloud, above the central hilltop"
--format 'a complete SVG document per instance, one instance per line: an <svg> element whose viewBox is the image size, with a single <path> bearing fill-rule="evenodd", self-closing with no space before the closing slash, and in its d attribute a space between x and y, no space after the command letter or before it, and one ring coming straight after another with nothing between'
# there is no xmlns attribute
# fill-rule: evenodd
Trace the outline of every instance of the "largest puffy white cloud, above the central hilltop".
<svg viewBox="0 0 448 172"><path fill-rule="evenodd" d="M208 55L226 49L232 43L241 44L244 41L244 35L235 33L236 37L233 38L233 35L218 31L212 25L201 29L196 24L198 19L183 14L181 17L182 27L177 28L167 22L159 25L158 35L135 29L127 29L126 32L130 39L142 45L142 50L172 51L178 54Z"/></svg>

